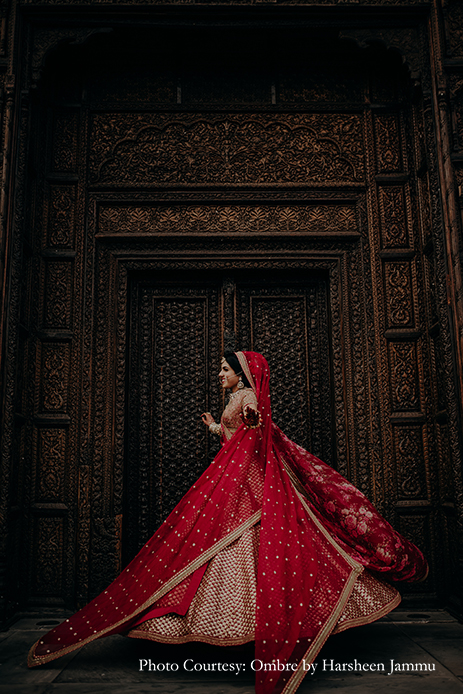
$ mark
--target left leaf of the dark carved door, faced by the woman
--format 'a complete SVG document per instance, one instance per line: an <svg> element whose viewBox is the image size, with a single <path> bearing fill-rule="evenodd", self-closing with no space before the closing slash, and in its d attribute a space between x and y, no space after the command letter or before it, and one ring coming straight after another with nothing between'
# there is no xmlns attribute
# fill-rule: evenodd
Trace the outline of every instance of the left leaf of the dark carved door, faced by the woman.
<svg viewBox="0 0 463 694"><path fill-rule="evenodd" d="M218 449L199 415L220 417L220 321L217 284L134 280L126 556L150 537Z"/></svg>

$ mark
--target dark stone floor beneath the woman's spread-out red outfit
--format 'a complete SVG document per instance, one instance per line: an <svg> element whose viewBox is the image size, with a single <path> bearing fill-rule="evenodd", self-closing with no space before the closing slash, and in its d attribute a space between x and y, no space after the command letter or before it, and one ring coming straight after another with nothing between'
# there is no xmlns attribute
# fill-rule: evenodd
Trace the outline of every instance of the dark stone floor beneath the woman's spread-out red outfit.
<svg viewBox="0 0 463 694"><path fill-rule="evenodd" d="M60 615L62 617L62 615ZM55 623L56 615L23 618L0 632L0 694L253 694L252 644L219 648L204 644L164 646L112 636L33 670L26 666L31 644ZM391 660L405 671L389 675ZM140 670L140 661L152 670ZM364 671L338 671L343 663ZM178 664L177 672L159 671ZM244 664L239 674L189 671L195 665ZM394 610L374 624L331 637L298 694L344 689L354 694L463 694L463 624L442 610ZM333 669L331 669L331 664ZM384 671L382 671L383 664ZM407 671L406 664L417 670ZM420 665L418 665L420 664ZM429 666L429 671L419 668ZM358 667L358 666L357 666ZM376 670L376 671L375 671Z"/></svg>

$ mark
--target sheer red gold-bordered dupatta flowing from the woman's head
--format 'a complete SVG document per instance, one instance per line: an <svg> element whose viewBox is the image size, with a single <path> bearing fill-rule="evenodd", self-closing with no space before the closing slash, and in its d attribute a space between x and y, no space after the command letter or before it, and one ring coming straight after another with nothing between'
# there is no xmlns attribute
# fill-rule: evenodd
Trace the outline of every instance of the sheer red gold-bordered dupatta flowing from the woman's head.
<svg viewBox="0 0 463 694"><path fill-rule="evenodd" d="M237 357L256 393L261 426L240 426L120 576L39 639L31 667L128 632L148 612L154 616L153 607L161 614L174 611L172 603L188 606L207 562L259 520L257 694L297 689L363 566L399 580L426 574L421 552L361 492L272 423L264 357Z"/></svg>

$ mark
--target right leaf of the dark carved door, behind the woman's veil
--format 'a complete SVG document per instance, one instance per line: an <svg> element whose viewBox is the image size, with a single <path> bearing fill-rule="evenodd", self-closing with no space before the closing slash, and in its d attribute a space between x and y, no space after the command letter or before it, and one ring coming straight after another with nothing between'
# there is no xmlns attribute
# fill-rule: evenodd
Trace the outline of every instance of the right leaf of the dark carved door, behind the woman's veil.
<svg viewBox="0 0 463 694"><path fill-rule="evenodd" d="M239 344L264 354L272 418L294 441L333 462L327 284L274 273L237 279Z"/></svg>

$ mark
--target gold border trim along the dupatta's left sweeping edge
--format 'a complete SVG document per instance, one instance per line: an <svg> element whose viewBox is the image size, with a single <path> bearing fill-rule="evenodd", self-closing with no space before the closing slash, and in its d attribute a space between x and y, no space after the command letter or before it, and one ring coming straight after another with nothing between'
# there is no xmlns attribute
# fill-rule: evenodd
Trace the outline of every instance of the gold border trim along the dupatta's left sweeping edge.
<svg viewBox="0 0 463 694"><path fill-rule="evenodd" d="M192 561L190 564L188 564L184 569L179 571L175 576L173 576L167 583L165 583L162 588L160 588L158 591L153 593L153 595L148 598L143 605L138 607L134 612L132 612L131 615L124 617L121 619L119 622L116 622L116 624L112 624L109 627L106 627L106 629L102 629L99 631L97 634L92 634L92 636L87 637L86 639L79 641L78 643L72 644L71 646L66 646L65 648L62 648L59 651L54 651L53 653L50 653L49 655L35 655L35 649L38 645L38 643L41 641L41 638L37 639L37 641L34 643L32 648L29 651L28 657L27 657L27 665L28 667L36 667L37 665L42 665L44 663L49 663L52 660L55 660L56 658L60 658L62 655L66 655L67 653L71 653L72 651L77 650L78 648L82 648L82 646L87 645L87 643L90 643L91 641L95 641L96 639L101 638L102 636L105 636L108 632L113 631L114 629L117 629L119 626L124 624L124 622L128 622L137 615L141 614L144 612L150 605L152 605L153 602L156 602L156 600L159 600L159 598L162 598L166 593L168 593L172 588L175 588L176 585L178 585L181 581L183 581L184 578L189 576L193 571L196 571L196 569L199 569L200 566L206 563L206 561L209 561L209 559L212 559L213 556L218 554L222 549L230 545L232 542L234 542L238 537L240 537L245 530L248 528L251 528L253 525L255 525L261 518L262 515L262 509L259 509L252 515L250 518L248 518L247 521L239 525L233 532L231 532L229 535L226 537L222 538L219 540L219 542L216 542L215 545L212 545L207 552L204 552L201 556L197 557L194 561Z"/></svg>

